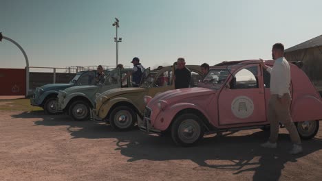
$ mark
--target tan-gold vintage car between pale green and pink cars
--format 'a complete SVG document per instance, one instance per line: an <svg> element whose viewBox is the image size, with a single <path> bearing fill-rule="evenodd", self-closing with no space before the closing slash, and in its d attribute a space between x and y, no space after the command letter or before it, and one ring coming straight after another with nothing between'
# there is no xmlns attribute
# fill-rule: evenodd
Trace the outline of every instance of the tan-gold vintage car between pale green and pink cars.
<svg viewBox="0 0 322 181"><path fill-rule="evenodd" d="M186 65L191 71L191 86L196 86L201 78L199 65ZM154 97L159 93L174 89L172 80L175 65L158 70L146 69L143 73L140 87L116 88L107 90L96 99L95 119L103 119L110 123L114 130L131 130L144 112L144 95Z"/></svg>

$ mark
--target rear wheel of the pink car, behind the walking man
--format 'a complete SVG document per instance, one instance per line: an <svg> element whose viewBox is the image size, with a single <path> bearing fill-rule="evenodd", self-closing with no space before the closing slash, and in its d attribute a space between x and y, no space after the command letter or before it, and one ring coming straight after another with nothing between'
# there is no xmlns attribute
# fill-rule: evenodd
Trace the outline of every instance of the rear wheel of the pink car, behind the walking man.
<svg viewBox="0 0 322 181"><path fill-rule="evenodd" d="M297 122L297 132L303 139L313 138L319 131L319 121L303 121Z"/></svg>

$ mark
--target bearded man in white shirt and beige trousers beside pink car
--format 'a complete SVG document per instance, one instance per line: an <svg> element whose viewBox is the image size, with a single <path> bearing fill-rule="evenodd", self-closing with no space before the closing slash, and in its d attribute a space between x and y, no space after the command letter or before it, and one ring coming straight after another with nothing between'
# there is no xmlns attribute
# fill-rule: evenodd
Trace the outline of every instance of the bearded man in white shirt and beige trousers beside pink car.
<svg viewBox="0 0 322 181"><path fill-rule="evenodd" d="M290 154L299 154L303 151L301 138L290 116L290 65L284 56L284 46L275 43L272 46L273 67L268 67L261 60L261 65L270 73L270 101L268 103L268 121L270 121L270 138L262 147L276 148L279 135L279 122L285 125L290 133L293 147Z"/></svg>

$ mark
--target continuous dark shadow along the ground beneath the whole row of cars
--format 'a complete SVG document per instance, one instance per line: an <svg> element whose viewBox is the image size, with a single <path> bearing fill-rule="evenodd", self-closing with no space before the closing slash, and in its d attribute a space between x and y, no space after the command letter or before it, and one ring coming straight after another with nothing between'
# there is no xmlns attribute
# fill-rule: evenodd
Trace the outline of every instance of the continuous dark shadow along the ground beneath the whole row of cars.
<svg viewBox="0 0 322 181"><path fill-rule="evenodd" d="M105 123L94 121L70 121L66 115L45 115L23 112L12 117L38 117L34 125L67 125L72 138L115 138L116 151L127 156L128 162L139 160L191 160L197 164L194 170L222 169L233 174L254 172L253 180L279 180L284 165L297 162L322 149L322 140L312 138L303 141L303 153L288 154L292 144L288 134L279 134L277 149L265 149L260 143L267 140L269 132L254 130L252 134L224 133L222 136L206 136L195 147L178 147L168 136L146 134L137 128L130 132L116 132ZM321 129L320 129L321 131ZM244 132L241 132L244 133Z"/></svg>

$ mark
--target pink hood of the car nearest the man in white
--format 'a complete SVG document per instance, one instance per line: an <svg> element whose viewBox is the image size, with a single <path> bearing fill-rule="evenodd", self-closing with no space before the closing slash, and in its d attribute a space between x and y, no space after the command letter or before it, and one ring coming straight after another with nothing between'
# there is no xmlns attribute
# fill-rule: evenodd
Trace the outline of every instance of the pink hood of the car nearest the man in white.
<svg viewBox="0 0 322 181"><path fill-rule="evenodd" d="M150 105L156 105L160 100L167 101L168 104L172 104L173 102L198 99L198 97L202 97L202 99L204 99L204 96L215 93L217 93L217 90L202 87L168 90L167 92L156 95L153 99L151 99L147 106L149 107Z"/></svg>

